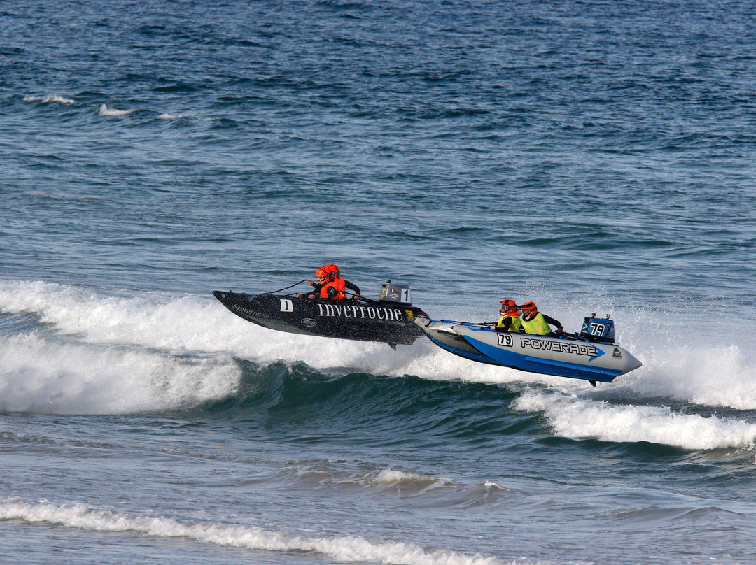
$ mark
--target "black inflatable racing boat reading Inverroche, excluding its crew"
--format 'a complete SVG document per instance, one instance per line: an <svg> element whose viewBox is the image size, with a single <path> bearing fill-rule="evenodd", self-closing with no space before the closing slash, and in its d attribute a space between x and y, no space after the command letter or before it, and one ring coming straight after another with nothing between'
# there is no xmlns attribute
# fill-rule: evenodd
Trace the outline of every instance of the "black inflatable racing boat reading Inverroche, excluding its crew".
<svg viewBox="0 0 756 565"><path fill-rule="evenodd" d="M425 335L414 323L423 310L414 307L410 289L383 285L380 298L352 298L332 301L287 295L247 295L243 292L212 291L222 304L248 322L279 332L318 335L324 338L383 341L391 347L411 345Z"/></svg>

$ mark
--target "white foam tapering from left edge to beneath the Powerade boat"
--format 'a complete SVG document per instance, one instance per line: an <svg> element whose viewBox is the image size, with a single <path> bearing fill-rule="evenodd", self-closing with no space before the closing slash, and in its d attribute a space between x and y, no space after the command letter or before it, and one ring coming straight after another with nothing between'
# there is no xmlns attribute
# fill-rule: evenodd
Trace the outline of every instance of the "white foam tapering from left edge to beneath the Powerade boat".
<svg viewBox="0 0 756 565"><path fill-rule="evenodd" d="M230 313L213 298L101 297L71 286L0 280L0 310L33 312L60 331L97 344L138 344L172 351L222 348L258 363L301 360L318 369L343 367L434 380L554 384L558 378L464 360L420 337L397 351L386 344L275 332Z"/></svg>

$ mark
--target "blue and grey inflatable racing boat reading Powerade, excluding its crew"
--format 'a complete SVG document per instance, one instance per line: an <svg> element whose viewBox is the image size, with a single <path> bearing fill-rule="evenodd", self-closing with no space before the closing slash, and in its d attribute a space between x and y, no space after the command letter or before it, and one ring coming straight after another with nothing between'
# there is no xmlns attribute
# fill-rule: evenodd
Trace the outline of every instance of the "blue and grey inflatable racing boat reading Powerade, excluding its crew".
<svg viewBox="0 0 756 565"><path fill-rule="evenodd" d="M579 334L545 337L497 332L492 324L431 320L418 316L415 323L439 347L460 357L544 375L612 382L642 366L614 341L614 322L586 318Z"/></svg>

